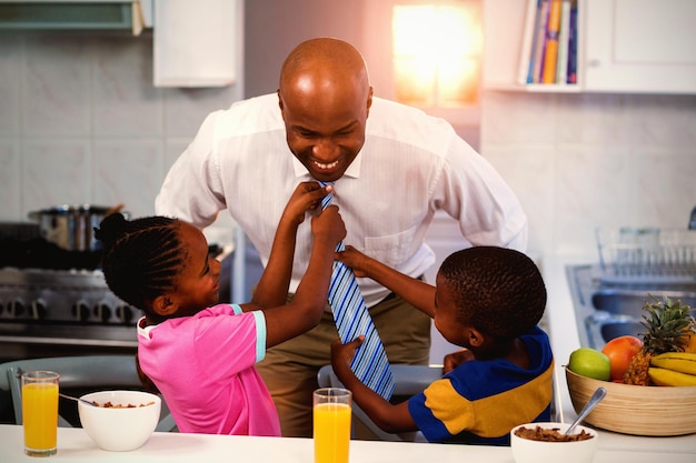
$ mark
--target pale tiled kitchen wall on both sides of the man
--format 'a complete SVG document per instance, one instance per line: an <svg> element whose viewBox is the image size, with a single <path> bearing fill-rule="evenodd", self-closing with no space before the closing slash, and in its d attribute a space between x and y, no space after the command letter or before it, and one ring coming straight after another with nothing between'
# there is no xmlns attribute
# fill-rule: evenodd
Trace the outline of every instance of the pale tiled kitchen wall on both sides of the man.
<svg viewBox="0 0 696 463"><path fill-rule="evenodd" d="M239 89L153 88L151 47L0 33L0 220L60 203L153 212L167 168ZM594 252L599 225L683 228L696 205L694 95L486 92L481 118L481 153L520 197L535 255Z"/></svg>

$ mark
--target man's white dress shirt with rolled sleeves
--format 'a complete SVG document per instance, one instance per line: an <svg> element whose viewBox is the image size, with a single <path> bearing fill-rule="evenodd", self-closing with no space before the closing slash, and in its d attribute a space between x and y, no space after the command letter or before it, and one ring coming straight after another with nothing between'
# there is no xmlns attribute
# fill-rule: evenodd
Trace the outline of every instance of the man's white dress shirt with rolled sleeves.
<svg viewBox="0 0 696 463"><path fill-rule="evenodd" d="M435 262L425 235L438 209L459 222L461 248L501 245L525 251L527 217L495 169L443 119L375 98L366 140L335 183L334 204L346 244L411 276ZM290 152L276 93L240 101L203 121L171 167L156 200L158 214L200 228L227 209L266 265L280 215L301 181L311 180ZM290 291L305 274L310 220L300 225ZM368 306L388 294L360 279Z"/></svg>

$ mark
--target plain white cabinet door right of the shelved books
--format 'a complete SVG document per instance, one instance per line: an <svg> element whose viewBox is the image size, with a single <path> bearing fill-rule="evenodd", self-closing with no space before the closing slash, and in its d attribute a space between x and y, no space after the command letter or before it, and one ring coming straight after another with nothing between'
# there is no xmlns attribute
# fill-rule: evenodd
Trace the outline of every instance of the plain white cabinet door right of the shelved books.
<svg viewBox="0 0 696 463"><path fill-rule="evenodd" d="M696 93L694 19L694 0L586 0L585 91Z"/></svg>

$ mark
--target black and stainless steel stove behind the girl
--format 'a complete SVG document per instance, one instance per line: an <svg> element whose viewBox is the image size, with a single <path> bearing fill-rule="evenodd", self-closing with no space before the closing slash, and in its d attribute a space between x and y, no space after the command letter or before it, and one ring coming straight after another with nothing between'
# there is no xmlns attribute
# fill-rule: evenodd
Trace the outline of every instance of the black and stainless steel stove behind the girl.
<svg viewBox="0 0 696 463"><path fill-rule="evenodd" d="M109 290L100 258L0 223L0 361L136 352L141 312Z"/></svg>

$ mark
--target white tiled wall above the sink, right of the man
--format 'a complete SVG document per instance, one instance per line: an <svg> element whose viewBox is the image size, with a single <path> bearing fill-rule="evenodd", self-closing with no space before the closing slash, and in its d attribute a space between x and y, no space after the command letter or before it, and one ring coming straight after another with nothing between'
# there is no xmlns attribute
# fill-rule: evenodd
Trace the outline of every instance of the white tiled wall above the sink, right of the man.
<svg viewBox="0 0 696 463"><path fill-rule="evenodd" d="M597 256L597 227L687 227L696 95L489 91L481 112L481 152L518 193L531 251Z"/></svg>

